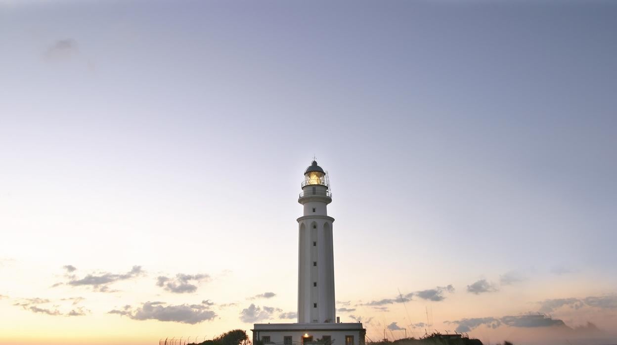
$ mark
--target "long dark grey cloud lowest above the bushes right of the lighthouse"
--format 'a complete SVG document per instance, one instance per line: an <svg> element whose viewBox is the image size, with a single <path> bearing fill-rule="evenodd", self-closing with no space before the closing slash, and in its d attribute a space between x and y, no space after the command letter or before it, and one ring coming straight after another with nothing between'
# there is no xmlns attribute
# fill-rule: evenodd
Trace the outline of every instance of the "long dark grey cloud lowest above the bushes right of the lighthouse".
<svg viewBox="0 0 617 345"><path fill-rule="evenodd" d="M456 323L457 332L468 332L474 328L486 325L489 328L497 328L502 325L518 328L535 328L550 326L565 326L562 320L551 318L544 314L528 314L518 316L504 316L501 318L482 317L482 318L463 318L462 320L447 322Z"/></svg>

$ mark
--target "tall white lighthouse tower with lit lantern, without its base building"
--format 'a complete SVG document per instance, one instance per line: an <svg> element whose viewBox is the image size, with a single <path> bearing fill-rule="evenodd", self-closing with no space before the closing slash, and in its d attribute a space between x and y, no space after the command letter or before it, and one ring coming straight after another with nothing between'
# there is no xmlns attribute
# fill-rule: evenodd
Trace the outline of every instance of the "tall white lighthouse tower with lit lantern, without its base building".
<svg viewBox="0 0 617 345"><path fill-rule="evenodd" d="M298 218L298 322L334 322L334 254L332 202L328 175L313 160L304 172L298 202L304 215Z"/></svg>

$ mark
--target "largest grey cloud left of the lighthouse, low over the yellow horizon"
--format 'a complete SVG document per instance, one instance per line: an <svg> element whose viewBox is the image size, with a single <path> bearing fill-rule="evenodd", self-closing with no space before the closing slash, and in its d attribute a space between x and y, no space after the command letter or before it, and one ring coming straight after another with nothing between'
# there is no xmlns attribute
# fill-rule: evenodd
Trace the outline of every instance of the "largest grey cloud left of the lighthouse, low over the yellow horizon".
<svg viewBox="0 0 617 345"><path fill-rule="evenodd" d="M159 320L163 322L180 322L195 325L207 320L213 320L217 314L208 310L204 304L180 304L167 306L165 302L145 302L141 307L131 308L124 306L122 309L114 309L107 314L123 315L133 320Z"/></svg>

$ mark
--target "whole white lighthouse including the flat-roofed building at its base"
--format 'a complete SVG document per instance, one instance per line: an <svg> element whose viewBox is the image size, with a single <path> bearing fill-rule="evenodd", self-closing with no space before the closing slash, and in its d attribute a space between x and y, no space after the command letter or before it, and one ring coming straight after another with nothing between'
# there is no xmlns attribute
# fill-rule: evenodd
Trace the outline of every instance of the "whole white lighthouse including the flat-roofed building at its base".
<svg viewBox="0 0 617 345"><path fill-rule="evenodd" d="M327 206L332 202L328 174L313 160L304 172L298 202L298 322L255 323L253 343L364 345L366 330L360 322L340 323L334 299L332 223Z"/></svg>

